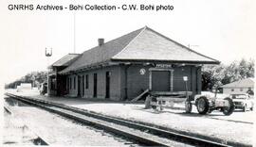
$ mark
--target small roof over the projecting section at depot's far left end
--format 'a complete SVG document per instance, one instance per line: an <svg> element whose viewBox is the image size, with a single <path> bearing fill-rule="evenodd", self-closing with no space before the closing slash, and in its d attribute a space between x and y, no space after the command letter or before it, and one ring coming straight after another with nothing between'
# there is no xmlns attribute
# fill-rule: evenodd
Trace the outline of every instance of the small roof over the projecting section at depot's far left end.
<svg viewBox="0 0 256 147"><path fill-rule="evenodd" d="M59 67L59 66L69 66L77 57L79 57L80 54L68 54L65 55L64 57L60 58L53 64L51 64L51 67Z"/></svg>

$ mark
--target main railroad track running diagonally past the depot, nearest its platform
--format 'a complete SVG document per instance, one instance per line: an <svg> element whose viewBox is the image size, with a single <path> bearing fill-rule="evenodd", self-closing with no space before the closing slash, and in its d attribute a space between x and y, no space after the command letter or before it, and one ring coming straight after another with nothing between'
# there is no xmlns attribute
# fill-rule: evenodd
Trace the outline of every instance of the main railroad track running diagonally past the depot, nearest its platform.
<svg viewBox="0 0 256 147"><path fill-rule="evenodd" d="M101 129L113 132L126 138L137 140L151 146L249 146L247 144L233 144L232 142L218 142L209 139L199 139L188 135L167 131L145 124L122 120L94 113L73 106L64 106L45 100L34 99L6 93L7 96L29 105L40 106L48 111L57 113L77 122L91 124Z"/></svg>

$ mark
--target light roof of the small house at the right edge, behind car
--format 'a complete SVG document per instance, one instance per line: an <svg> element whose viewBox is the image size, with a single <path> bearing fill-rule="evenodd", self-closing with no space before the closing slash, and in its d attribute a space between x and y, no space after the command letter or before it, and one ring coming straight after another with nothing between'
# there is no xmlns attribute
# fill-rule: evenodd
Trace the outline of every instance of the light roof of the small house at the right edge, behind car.
<svg viewBox="0 0 256 147"><path fill-rule="evenodd" d="M223 85L221 88L253 88L254 87L254 79L246 78L236 82L232 82L226 85Z"/></svg>

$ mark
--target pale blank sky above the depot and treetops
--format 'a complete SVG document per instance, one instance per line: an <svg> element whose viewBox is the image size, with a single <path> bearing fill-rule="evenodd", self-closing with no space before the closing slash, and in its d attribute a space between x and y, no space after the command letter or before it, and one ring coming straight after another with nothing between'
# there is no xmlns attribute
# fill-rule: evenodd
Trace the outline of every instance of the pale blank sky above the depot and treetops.
<svg viewBox="0 0 256 147"><path fill-rule="evenodd" d="M145 25L174 41L190 44L193 50L224 64L255 57L256 5L253 0L12 0L0 3L1 83L12 82L33 71L46 71L48 64L74 53L74 48L75 53L82 53L95 47L98 38L111 41ZM14 11L8 9L9 4L151 4L173 5L174 10ZM52 48L53 53L48 63L46 48Z"/></svg>

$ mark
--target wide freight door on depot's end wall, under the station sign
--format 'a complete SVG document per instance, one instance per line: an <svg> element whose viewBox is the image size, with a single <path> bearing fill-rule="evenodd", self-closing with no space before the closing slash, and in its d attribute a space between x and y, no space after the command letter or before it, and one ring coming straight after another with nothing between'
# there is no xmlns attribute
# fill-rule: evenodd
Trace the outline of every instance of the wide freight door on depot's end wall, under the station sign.
<svg viewBox="0 0 256 147"><path fill-rule="evenodd" d="M152 71L152 90L170 91L169 71Z"/></svg>

